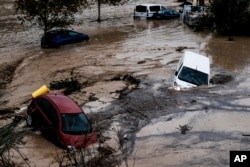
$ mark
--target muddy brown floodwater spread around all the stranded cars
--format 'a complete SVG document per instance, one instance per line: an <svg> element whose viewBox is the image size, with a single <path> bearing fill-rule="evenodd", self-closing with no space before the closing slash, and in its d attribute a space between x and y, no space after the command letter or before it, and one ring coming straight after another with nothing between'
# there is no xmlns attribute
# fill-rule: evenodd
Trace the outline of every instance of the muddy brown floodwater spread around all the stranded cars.
<svg viewBox="0 0 250 167"><path fill-rule="evenodd" d="M90 41L59 49L41 49L39 28L20 26L14 15L3 15L0 108L18 112L37 88L73 71L84 86L69 96L93 122L103 121L105 130L124 129L129 166L228 166L230 150L250 150L250 38L228 40L209 29L196 31L179 19L134 20L133 7L139 2L104 6L101 23L94 21L96 10L83 12L77 18L87 21L72 28L87 33ZM176 2L156 2L179 8ZM117 9L119 14L108 12ZM210 58L211 77L233 79L174 91L172 78L185 49ZM191 128L181 134L180 125ZM105 134L112 140L112 133ZM31 166L57 166L60 148L35 132L24 140L21 149Z"/></svg>

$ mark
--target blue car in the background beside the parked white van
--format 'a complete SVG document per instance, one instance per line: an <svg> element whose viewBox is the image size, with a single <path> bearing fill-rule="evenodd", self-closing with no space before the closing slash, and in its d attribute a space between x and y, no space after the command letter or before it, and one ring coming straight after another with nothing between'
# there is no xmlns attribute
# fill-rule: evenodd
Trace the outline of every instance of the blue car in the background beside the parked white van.
<svg viewBox="0 0 250 167"><path fill-rule="evenodd" d="M154 19L172 19L179 17L180 17L179 12L172 9L160 10L153 15Z"/></svg>

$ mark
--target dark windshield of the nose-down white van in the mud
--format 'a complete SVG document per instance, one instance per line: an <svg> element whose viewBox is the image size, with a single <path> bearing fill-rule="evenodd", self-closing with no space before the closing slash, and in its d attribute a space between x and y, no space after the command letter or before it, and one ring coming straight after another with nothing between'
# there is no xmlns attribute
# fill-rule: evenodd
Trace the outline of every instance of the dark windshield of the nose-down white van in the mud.
<svg viewBox="0 0 250 167"><path fill-rule="evenodd" d="M182 68L178 78L197 86L208 84L208 74L185 66Z"/></svg>

